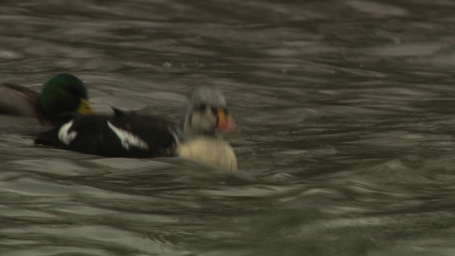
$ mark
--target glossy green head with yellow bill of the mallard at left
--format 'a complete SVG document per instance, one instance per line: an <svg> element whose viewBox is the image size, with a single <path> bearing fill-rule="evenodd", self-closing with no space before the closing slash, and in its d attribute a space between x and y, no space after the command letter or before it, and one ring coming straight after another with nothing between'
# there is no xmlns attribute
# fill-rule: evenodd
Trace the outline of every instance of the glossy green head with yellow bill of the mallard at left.
<svg viewBox="0 0 455 256"><path fill-rule="evenodd" d="M44 84L38 105L48 116L68 112L94 114L84 83L74 75L59 74Z"/></svg>

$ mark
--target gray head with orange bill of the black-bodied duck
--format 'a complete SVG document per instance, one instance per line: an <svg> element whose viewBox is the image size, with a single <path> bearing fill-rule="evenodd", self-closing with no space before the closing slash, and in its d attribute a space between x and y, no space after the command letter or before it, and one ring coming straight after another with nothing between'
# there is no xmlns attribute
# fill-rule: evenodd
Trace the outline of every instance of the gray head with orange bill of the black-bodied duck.
<svg viewBox="0 0 455 256"><path fill-rule="evenodd" d="M215 87L196 87L183 113L183 130L187 135L215 135L217 131L231 132L235 126L223 92Z"/></svg>

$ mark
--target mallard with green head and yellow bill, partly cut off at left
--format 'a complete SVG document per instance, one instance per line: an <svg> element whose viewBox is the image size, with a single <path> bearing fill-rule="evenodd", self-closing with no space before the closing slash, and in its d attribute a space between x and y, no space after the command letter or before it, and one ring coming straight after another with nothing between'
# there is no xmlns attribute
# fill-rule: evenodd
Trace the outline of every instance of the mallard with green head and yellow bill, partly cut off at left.
<svg viewBox="0 0 455 256"><path fill-rule="evenodd" d="M61 73L43 85L41 93L8 82L0 84L0 114L31 117L42 126L55 126L77 114L95 114L87 88L75 75Z"/></svg>

